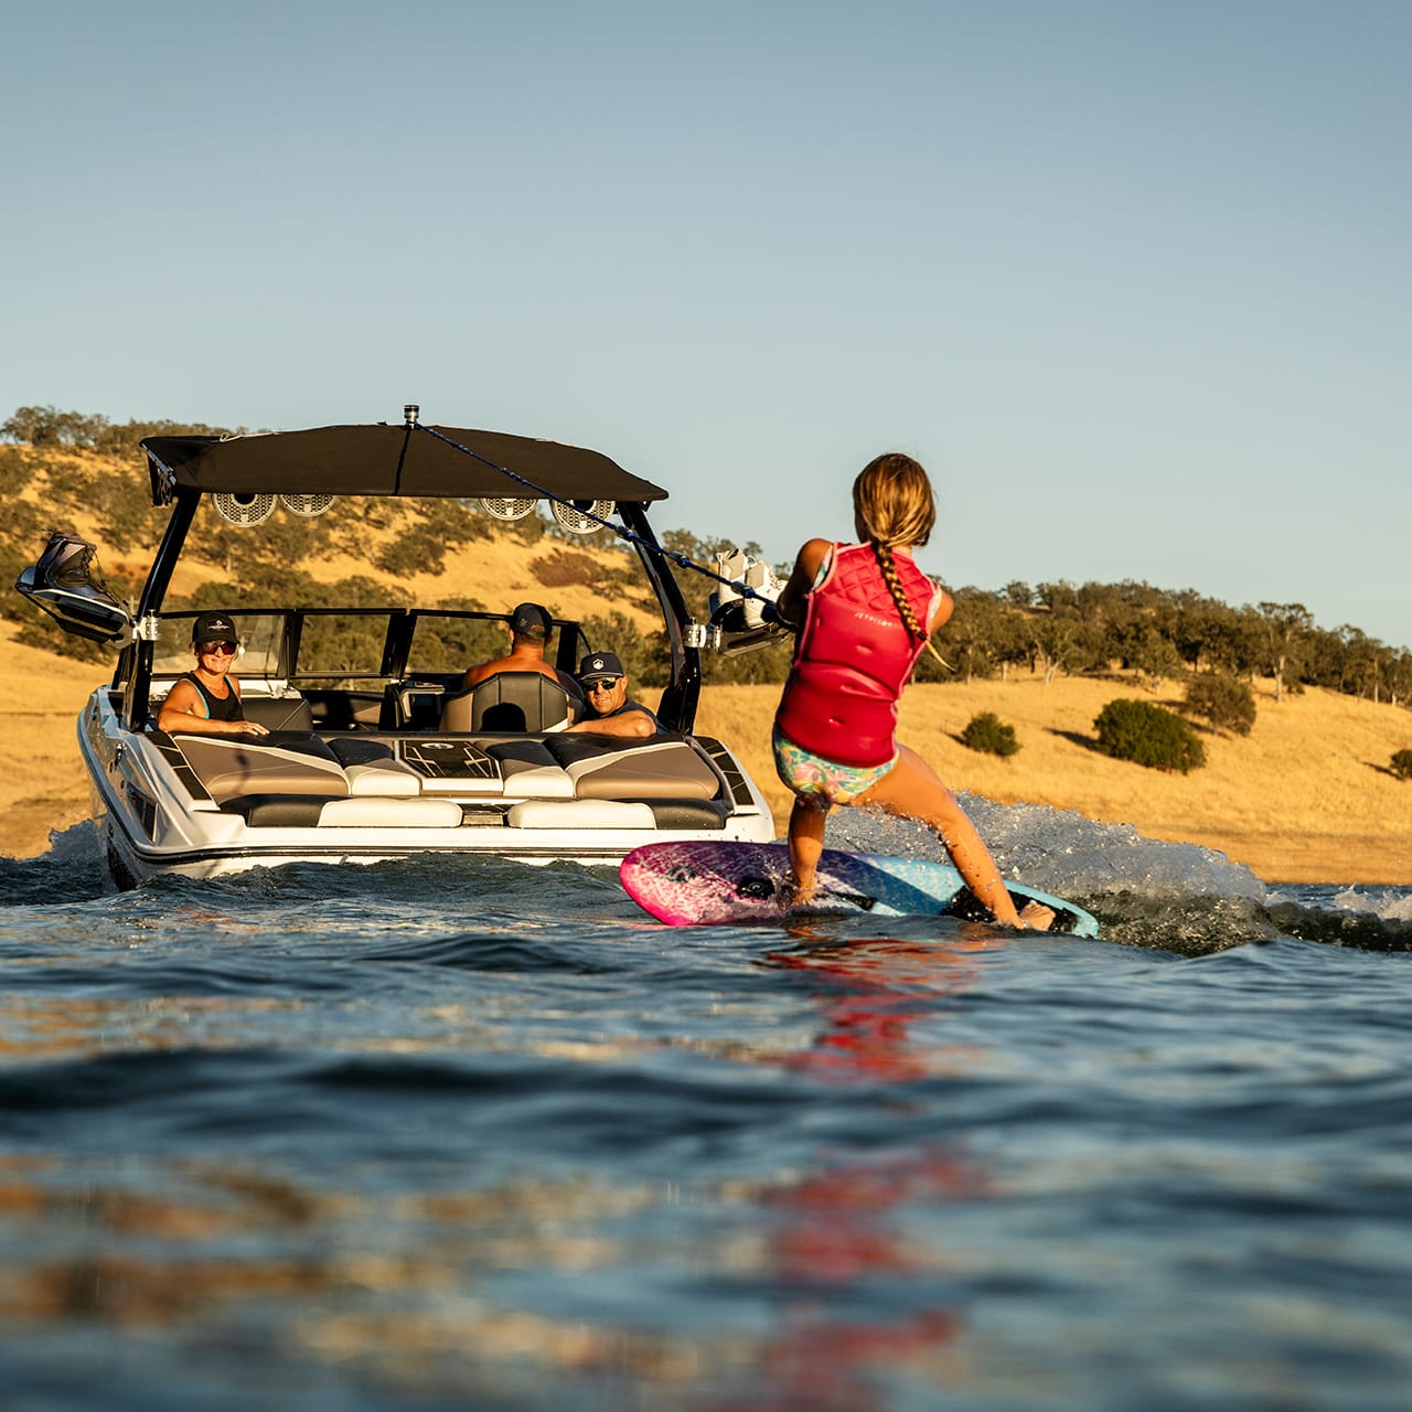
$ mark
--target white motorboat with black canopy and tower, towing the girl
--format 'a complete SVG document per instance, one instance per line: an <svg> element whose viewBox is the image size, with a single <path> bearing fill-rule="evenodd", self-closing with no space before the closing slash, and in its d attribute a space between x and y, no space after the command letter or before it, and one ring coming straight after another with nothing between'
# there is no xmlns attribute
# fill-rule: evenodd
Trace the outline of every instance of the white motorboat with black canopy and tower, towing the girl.
<svg viewBox="0 0 1412 1412"><path fill-rule="evenodd" d="M401 424L141 445L152 504L168 518L136 606L90 576L83 551L92 546L66 535L17 585L66 631L117 648L113 676L85 706L78 734L120 887L169 873L429 853L599 864L650 842L774 837L770 808L740 760L693 730L702 651L731 642L690 618L647 517L666 496L661 487L594 450L433 426L415 407ZM566 528L611 528L631 545L661 609L671 672L659 731L644 740L566 733L582 703L538 674L501 674L463 690L476 634L484 641L486 623L508 621L510 604L497 613L323 602L220 604L239 628L244 713L268 736L158 730L161 702L192 666L196 611L164 604L184 545L215 524L201 517L215 513L258 534L278 504L316 514L336 497L455 498L501 518L546 505ZM741 628L738 641L758 635L758 616ZM566 676L585 654L614 647L596 647L580 621L559 617L551 644Z"/></svg>

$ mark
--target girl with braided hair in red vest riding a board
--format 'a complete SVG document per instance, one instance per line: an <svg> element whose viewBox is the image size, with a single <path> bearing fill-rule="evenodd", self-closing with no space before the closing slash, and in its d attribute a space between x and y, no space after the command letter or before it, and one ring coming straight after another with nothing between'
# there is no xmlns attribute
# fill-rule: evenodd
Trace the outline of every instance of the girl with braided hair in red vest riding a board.
<svg viewBox="0 0 1412 1412"><path fill-rule="evenodd" d="M853 521L857 544L810 539L799 549L777 604L798 633L774 727L775 770L795 796L795 899L813 895L829 810L863 805L925 823L995 921L1043 931L1053 912L1036 902L1015 911L956 796L895 738L902 688L955 606L912 559L936 524L926 472L898 452L870 462L853 483Z"/></svg>

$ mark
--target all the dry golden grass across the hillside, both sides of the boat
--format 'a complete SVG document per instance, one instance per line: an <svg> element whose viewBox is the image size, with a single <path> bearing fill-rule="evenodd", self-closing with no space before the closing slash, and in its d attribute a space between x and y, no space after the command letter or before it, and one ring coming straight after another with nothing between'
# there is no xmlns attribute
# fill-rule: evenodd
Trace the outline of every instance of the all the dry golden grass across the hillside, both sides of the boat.
<svg viewBox="0 0 1412 1412"><path fill-rule="evenodd" d="M78 457L82 462L82 457ZM76 515L79 532L102 541ZM369 542L377 531L369 530ZM37 545L35 549L40 546ZM452 596L508 606L532 597L566 616L603 611L592 583L565 582L562 555L589 561L623 554L604 535L527 546L510 535L476 541L452 556L443 575L401 580L419 602ZM107 554L110 573L140 575L144 562ZM332 582L369 573L363 556L330 556L304 568ZM546 586L548 576L552 586ZM186 594L220 575L185 563L174 592ZM592 580L592 573L580 578ZM648 626L654 618L630 603L614 603ZM73 719L104 676L14 641L16 626L0 623L0 729L11 743L0 777L0 854L31 857L48 846L51 827L86 815L86 784L73 741ZM651 692L641 693L651 703ZM1028 675L1007 682L914 686L902 702L901 737L919 750L956 789L1003 803L1028 801L1076 809L1142 833L1196 842L1248 864L1267 881L1412 884L1412 782L1391 775L1394 751L1412 747L1412 713L1323 690L1286 696L1275 705L1258 690L1260 714L1245 737L1207 734L1207 765L1169 775L1108 760L1091 748L1093 720L1115 696L1141 696L1132 682L1060 676L1049 686ZM786 799L770 761L775 686L709 686L698 729L731 741L764 788L782 826ZM1175 705L1175 696L1156 698ZM957 736L973 714L995 712L1012 724L1021 751L1010 760L980 755Z"/></svg>

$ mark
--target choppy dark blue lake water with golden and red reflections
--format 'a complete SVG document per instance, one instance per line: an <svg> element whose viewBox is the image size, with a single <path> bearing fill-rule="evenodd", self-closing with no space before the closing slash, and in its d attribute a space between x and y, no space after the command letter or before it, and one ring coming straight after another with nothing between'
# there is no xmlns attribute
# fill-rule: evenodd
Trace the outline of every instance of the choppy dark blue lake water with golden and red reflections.
<svg viewBox="0 0 1412 1412"><path fill-rule="evenodd" d="M1412 892L974 806L1104 939L0 861L0 1404L1405 1408Z"/></svg>

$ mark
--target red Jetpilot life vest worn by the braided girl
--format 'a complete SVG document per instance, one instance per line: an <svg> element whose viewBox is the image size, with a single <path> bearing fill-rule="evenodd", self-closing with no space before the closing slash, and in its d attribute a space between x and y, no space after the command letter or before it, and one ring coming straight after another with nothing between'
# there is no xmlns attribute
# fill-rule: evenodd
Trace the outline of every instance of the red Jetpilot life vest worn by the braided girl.
<svg viewBox="0 0 1412 1412"><path fill-rule="evenodd" d="M909 555L894 555L894 563L925 628L940 590ZM840 765L887 764L897 754L897 699L926 640L898 614L870 544L836 544L805 609L775 726Z"/></svg>

